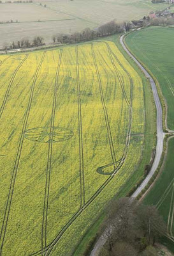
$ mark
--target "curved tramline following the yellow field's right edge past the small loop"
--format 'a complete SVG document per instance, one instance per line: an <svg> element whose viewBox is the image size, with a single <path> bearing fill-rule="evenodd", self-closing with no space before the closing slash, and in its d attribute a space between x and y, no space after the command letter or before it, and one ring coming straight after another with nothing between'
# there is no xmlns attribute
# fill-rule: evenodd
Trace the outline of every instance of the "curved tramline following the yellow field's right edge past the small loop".
<svg viewBox="0 0 174 256"><path fill-rule="evenodd" d="M89 44L91 44L91 43L89 43ZM111 52L112 52L112 50L111 50ZM117 58L117 56L115 56L115 58ZM120 61L119 61L119 63L120 63ZM125 68L122 66L121 63L120 63L120 67L122 67L124 69L124 71L127 72L127 70L125 70ZM129 73L127 72L127 75L128 74ZM132 78L131 78L130 74L128 76L129 76L130 84L131 84L131 95L130 95L130 98L131 98L130 104L131 105L130 105L130 108L129 108L129 124L128 124L128 129L127 129L126 144L125 144L124 154L122 156L122 159L120 159L119 164L118 164L117 168L115 168L115 170L113 171L112 175L110 175L110 177L108 177L108 179L106 179L106 181L100 186L100 188L96 191L96 193L83 205L83 207L81 209L79 209L73 215L73 217L68 221L68 223L66 223L66 225L64 225L64 227L59 232L59 234L57 234L57 236L52 241L52 243L48 244L45 248L43 248L43 250L32 253L29 256L35 256L35 255L45 255L45 256L47 256L47 255L50 255L50 253L54 249L54 246L58 243L59 239L62 237L64 232L66 232L66 230L71 226L73 221L75 221L76 218L78 218L78 216L80 216L80 214L83 212L83 210L85 210L94 201L94 199L101 193L101 191L103 191L103 189L109 184L109 182L113 179L113 177L115 177L117 172L120 170L120 168L124 164L124 161L126 160L127 152L128 152L128 149L129 149L129 143L130 143L130 137L131 137L131 124L132 124L133 81L132 81Z"/></svg>

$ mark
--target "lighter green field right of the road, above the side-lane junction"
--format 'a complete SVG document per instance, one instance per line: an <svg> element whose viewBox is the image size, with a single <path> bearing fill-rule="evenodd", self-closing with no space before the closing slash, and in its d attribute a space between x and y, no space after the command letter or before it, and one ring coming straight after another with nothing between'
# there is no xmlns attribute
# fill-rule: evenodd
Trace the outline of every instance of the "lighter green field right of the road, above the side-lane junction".
<svg viewBox="0 0 174 256"><path fill-rule="evenodd" d="M173 41L173 28L147 28L126 37L127 45L145 63L161 85L168 104L169 129L174 129Z"/></svg>

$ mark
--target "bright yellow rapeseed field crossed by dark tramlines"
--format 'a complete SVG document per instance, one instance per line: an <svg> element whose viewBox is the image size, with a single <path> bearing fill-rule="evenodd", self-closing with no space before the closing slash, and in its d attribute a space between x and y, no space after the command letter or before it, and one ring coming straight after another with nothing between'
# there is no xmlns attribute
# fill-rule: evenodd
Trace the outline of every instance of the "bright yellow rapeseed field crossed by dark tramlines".
<svg viewBox="0 0 174 256"><path fill-rule="evenodd" d="M105 41L0 60L0 255L71 255L136 172L141 78Z"/></svg>

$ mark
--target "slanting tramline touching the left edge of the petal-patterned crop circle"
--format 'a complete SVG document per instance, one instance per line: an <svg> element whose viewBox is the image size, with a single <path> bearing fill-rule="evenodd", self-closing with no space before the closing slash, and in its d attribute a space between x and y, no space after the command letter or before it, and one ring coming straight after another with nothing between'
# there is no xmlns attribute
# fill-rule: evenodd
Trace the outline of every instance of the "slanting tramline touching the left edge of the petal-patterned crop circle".
<svg viewBox="0 0 174 256"><path fill-rule="evenodd" d="M2 228L1 228L0 255L2 255L2 252L3 252L3 243L4 243L4 238L5 238L5 235L6 235L6 228L7 228L7 225L8 225L8 218L9 218L9 214L10 214L11 201L13 199L13 191L14 191L14 188L15 188L15 180L16 180L16 177L17 177L18 164L19 164L19 161L20 161L20 155L21 155L22 146L23 146L23 143L24 143L24 132L25 132L25 129L27 127L27 121L28 121L28 118L29 118L31 103L32 103L32 100L33 100L34 86L36 84L36 79L38 77L38 72L40 71L41 64L43 63L43 59L45 58L45 53L46 52L43 52L43 56L41 58L40 64L39 64L39 66L36 70L36 73L34 75L33 84L31 86L31 93L29 95L29 102L28 102L27 110L26 110L25 117L24 117L24 123L23 123L23 126L22 126L22 132L21 132L21 135L20 135L20 141L19 141L19 145L18 145L17 156L16 156L16 159L15 159L15 166L13 168L13 173L12 173L11 183L10 183L10 189L9 189L9 193L8 193L8 199L7 199L7 202L6 202L6 209L5 209L5 212L4 212L3 225L2 225Z"/></svg>

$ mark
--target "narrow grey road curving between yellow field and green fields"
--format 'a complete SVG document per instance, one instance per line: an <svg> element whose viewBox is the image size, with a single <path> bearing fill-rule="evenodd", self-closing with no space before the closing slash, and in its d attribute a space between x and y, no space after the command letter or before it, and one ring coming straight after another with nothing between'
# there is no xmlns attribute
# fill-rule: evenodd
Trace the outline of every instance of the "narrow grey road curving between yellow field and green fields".
<svg viewBox="0 0 174 256"><path fill-rule="evenodd" d="M151 168L149 174L147 175L145 180L143 180L141 185L136 189L136 191L134 191L133 195L131 196L132 198L136 198L136 196L138 196L141 193L141 191L145 188L145 186L148 184L148 182L152 178L154 172L156 172L156 169L159 165L159 161L160 161L161 156L162 156L163 142L164 142L164 136L165 136L165 133L163 132L163 111L162 111L161 102L159 100L159 96L158 96L157 88L156 88L156 83L154 82L154 79L152 78L152 76L150 76L149 72L147 72L147 70L145 70L145 68L140 64L140 62L138 60L136 60L136 58L133 56L133 54L131 54L131 52L129 52L126 45L124 44L124 35L120 36L120 44L122 45L124 50L127 52L127 54L138 65L138 67L141 68L141 70L145 74L145 77L147 77L149 79L151 87L152 87L152 92L153 92L153 95L154 95L156 110L157 110L157 112L156 112L157 113L157 119L156 119L156 125L157 125L157 129L156 129L156 131L157 131L156 156L155 156L154 163L152 164L152 168ZM104 235L101 235L101 237L99 237L97 243L94 245L94 248L93 248L90 256L99 255L99 252L100 252L101 248L103 247L103 245L106 243L106 241L107 241L106 237Z"/></svg>

